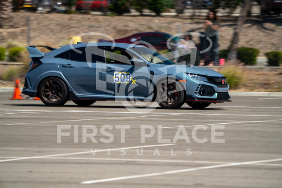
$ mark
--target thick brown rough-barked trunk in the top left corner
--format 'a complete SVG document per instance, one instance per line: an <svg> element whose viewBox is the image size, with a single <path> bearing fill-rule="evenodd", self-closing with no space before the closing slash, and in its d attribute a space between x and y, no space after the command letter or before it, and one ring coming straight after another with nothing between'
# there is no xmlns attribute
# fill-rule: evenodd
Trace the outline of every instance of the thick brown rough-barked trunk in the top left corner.
<svg viewBox="0 0 282 188"><path fill-rule="evenodd" d="M0 0L0 28L11 28L13 16L12 0Z"/></svg>

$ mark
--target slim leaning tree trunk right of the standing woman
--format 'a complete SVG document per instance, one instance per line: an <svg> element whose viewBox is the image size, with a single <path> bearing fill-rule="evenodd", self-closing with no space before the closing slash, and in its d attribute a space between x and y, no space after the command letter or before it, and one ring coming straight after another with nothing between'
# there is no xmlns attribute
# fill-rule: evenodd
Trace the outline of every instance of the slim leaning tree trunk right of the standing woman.
<svg viewBox="0 0 282 188"><path fill-rule="evenodd" d="M249 10L251 1L252 0L244 0L243 8L242 8L240 16L237 19L237 24L236 24L235 29L234 29L232 41L231 41L231 44L229 46L229 53L228 53L228 56L227 56L228 60L237 59L237 48L238 48L238 44L239 44L239 34L240 34L240 31L241 31L243 24L245 23L245 19L247 17L247 12Z"/></svg>

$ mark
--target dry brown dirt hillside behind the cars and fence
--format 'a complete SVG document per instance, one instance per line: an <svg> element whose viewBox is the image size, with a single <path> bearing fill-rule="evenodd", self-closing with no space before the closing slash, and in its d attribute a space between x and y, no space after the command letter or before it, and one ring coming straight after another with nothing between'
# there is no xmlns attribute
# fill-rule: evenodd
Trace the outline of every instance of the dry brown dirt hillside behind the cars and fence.
<svg viewBox="0 0 282 188"><path fill-rule="evenodd" d="M106 39L103 35L121 38L139 32L164 32L171 35L181 32L200 32L205 17L188 15L175 16L121 16L110 17L84 14L40 14L31 12L14 13L12 29L0 29L0 46L16 43L27 46L27 17L31 20L31 45L47 45L54 48L66 45L71 36L84 34L82 41ZM236 17L221 17L219 45L227 49L233 34ZM239 46L260 50L260 56L268 51L282 51L282 17L249 17L243 26ZM92 32L92 33L89 33ZM198 43L198 38L194 37ZM1 67L3 74L5 67ZM282 92L282 71L244 69L246 79L239 89L241 91ZM21 75L21 80L24 74ZM14 85L13 82L0 82L0 86ZM22 83L23 85L23 83Z"/></svg>

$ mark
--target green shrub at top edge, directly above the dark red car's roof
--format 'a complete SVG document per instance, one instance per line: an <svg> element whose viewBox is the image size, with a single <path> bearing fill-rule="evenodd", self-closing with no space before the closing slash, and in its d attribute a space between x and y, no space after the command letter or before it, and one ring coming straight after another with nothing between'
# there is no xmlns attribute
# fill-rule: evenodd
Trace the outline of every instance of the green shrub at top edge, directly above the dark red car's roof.
<svg viewBox="0 0 282 188"><path fill-rule="evenodd" d="M173 5L172 0L148 0L148 9L160 16L167 8Z"/></svg>

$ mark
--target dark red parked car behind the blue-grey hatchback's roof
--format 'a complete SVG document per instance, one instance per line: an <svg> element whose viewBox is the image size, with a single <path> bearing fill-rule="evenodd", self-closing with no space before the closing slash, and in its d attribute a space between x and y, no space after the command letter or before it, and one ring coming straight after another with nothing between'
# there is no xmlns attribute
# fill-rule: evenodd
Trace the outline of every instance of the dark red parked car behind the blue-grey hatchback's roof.
<svg viewBox="0 0 282 188"><path fill-rule="evenodd" d="M168 50L166 42L171 36L172 35L170 34L161 33L161 32L143 32L143 33L132 34L124 38L115 39L114 41L117 43L125 43L125 44L132 44L138 41L145 41L151 44L153 47L155 47L157 51L163 51L163 50ZM100 39L99 42L112 42L112 41ZM176 38L172 40L172 43L176 44Z"/></svg>

